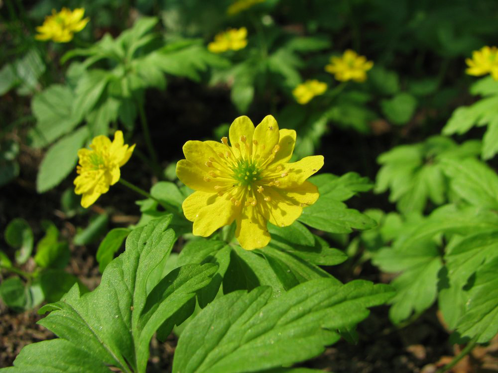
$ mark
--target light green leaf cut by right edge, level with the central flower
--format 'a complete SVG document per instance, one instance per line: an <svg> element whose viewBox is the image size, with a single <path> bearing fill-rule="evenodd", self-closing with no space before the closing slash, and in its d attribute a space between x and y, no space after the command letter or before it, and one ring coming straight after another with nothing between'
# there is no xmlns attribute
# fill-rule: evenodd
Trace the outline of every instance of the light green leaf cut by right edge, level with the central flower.
<svg viewBox="0 0 498 373"><path fill-rule="evenodd" d="M478 207L498 208L498 176L485 163L473 158L444 160L451 189L462 199Z"/></svg>

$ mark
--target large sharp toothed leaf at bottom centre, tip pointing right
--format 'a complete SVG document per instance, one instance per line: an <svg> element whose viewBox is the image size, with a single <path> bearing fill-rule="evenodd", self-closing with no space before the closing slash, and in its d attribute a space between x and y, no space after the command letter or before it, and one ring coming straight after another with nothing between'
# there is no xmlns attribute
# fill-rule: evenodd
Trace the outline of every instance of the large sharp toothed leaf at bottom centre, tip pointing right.
<svg viewBox="0 0 498 373"><path fill-rule="evenodd" d="M255 372L310 359L340 338L334 330L363 320L367 307L385 302L392 291L368 281L319 279L270 296L271 289L260 286L209 304L181 334L172 371Z"/></svg>

